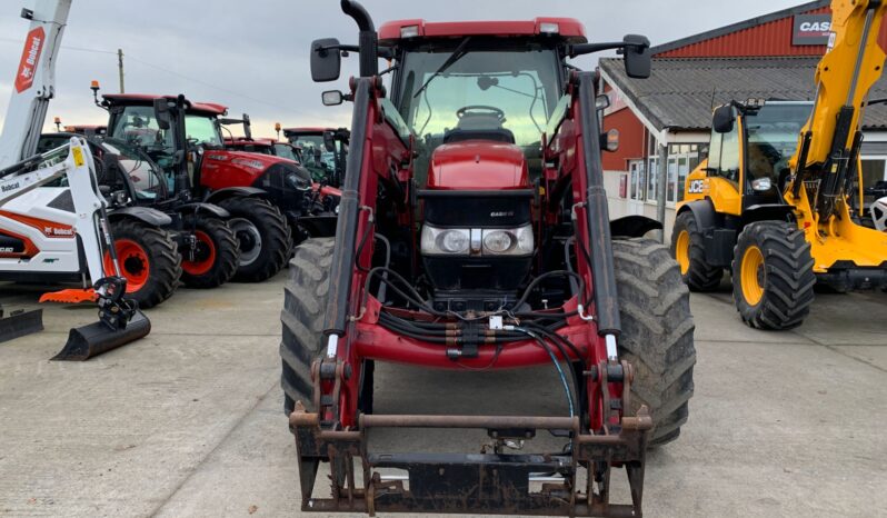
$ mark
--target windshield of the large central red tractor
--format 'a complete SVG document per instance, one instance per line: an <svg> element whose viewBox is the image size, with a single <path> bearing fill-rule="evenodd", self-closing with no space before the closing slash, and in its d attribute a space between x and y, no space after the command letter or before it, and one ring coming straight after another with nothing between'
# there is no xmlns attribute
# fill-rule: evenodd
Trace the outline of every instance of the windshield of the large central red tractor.
<svg viewBox="0 0 887 518"><path fill-rule="evenodd" d="M417 137L420 182L435 148L456 140L512 142L528 159L539 158L541 135L559 98L560 61L552 48L469 37L446 48L411 50L401 67L395 102Z"/></svg>

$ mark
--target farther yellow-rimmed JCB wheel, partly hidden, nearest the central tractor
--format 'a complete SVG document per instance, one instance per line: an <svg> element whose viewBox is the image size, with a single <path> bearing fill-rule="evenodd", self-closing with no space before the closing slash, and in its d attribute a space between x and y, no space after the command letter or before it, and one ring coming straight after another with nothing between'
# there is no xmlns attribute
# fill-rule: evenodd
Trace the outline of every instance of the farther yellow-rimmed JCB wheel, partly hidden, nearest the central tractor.
<svg viewBox="0 0 887 518"><path fill-rule="evenodd" d="M680 276L691 291L714 291L720 286L724 268L706 262L702 232L692 212L682 212L671 230L671 257L678 261Z"/></svg>

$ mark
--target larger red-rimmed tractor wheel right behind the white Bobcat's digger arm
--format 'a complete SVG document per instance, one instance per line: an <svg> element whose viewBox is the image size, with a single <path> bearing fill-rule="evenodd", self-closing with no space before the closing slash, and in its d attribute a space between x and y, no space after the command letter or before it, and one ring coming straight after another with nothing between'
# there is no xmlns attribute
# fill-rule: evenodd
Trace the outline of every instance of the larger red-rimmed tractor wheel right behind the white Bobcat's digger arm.
<svg viewBox="0 0 887 518"><path fill-rule="evenodd" d="M111 233L120 272L127 279L126 297L143 309L170 298L179 286L182 270L176 241L169 232L127 218L111 222ZM106 253L106 261L109 260Z"/></svg>

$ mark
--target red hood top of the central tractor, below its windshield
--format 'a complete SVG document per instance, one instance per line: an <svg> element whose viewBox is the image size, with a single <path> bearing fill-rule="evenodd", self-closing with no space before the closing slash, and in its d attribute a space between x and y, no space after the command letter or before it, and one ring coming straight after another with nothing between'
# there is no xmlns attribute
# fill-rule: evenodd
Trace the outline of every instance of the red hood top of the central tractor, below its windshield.
<svg viewBox="0 0 887 518"><path fill-rule="evenodd" d="M515 145L465 140L431 155L429 189L501 190L529 187L527 160Z"/></svg>

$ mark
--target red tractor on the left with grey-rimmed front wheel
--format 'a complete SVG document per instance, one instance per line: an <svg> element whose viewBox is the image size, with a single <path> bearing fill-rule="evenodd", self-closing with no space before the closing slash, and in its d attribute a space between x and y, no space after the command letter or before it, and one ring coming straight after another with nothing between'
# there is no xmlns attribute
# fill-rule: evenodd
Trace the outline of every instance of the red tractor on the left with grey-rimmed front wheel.
<svg viewBox="0 0 887 518"><path fill-rule="evenodd" d="M98 94L98 86L92 90ZM258 282L283 268L291 236L270 200L310 189L290 160L226 150L221 124L239 119L225 119L221 104L139 93L108 93L97 103L110 113L108 137L147 152L166 171L170 191L187 190L230 213L240 247L235 280Z"/></svg>

